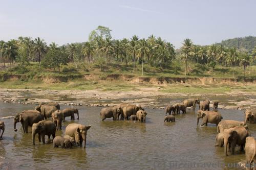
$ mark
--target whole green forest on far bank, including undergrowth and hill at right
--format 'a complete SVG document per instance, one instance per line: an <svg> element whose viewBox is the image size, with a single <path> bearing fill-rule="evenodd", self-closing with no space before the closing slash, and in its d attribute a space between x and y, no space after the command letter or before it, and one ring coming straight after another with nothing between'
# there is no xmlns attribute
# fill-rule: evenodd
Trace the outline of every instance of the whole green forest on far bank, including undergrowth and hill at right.
<svg viewBox="0 0 256 170"><path fill-rule="evenodd" d="M65 65L72 65L74 69L82 67L84 71L98 68L104 72L112 65L119 65L130 66L131 74L140 70L141 76L144 76L145 71L150 72L155 68L160 71L170 70L176 75L190 76L193 72L194 75L200 72L197 68L214 72L217 67L242 67L244 75L241 76L245 76L247 67L256 64L256 46L251 46L255 37L251 36L212 45L197 45L191 39L185 39L182 47L175 49L171 42L154 35L146 39L134 35L118 40L112 38L111 31L108 27L98 26L90 33L88 41L61 46L55 42L48 45L39 37L19 37L7 42L2 40L2 72L16 71L15 73L24 74L31 65L37 72L69 72ZM237 44L240 46L236 46Z"/></svg>

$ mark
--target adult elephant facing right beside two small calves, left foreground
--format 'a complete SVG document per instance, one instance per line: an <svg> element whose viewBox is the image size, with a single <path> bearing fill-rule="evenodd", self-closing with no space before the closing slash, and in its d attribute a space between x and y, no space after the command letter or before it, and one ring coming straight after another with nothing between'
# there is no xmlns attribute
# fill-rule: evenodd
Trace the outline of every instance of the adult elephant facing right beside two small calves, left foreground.
<svg viewBox="0 0 256 170"><path fill-rule="evenodd" d="M86 136L87 131L91 128L91 125L84 126L81 124L69 124L66 127L65 135L70 135L71 137L75 138L75 142L82 147L83 141L83 148L86 148Z"/></svg>

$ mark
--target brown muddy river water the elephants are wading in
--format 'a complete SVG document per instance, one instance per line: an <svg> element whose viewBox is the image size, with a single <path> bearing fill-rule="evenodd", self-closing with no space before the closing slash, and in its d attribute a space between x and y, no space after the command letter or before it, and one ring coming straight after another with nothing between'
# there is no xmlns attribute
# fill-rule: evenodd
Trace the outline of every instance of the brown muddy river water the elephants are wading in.
<svg viewBox="0 0 256 170"><path fill-rule="evenodd" d="M0 103L0 117L31 108L34 105ZM146 124L140 124L112 119L101 122L100 107L77 108L80 119L67 118L56 135L63 135L69 123L90 124L86 149L53 148L52 142L38 140L33 145L31 128L24 134L18 123L14 132L13 119L1 119L6 131L0 141L0 169L229 169L231 163L245 159L239 152L225 157L224 148L215 147L216 126L197 127L193 111L177 115L176 123L164 123L164 110L146 108ZM243 120L242 111L219 111L224 119ZM255 126L249 128L256 136Z"/></svg>

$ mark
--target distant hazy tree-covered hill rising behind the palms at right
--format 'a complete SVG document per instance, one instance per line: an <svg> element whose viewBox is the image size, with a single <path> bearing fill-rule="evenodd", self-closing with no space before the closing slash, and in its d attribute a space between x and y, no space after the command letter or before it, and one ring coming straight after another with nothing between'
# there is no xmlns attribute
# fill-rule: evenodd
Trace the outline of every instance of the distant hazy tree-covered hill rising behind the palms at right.
<svg viewBox="0 0 256 170"><path fill-rule="evenodd" d="M248 36L243 38L232 38L227 40L222 40L220 43L226 47L236 47L238 49L245 48L248 52L251 53L254 46L256 46L256 37Z"/></svg>

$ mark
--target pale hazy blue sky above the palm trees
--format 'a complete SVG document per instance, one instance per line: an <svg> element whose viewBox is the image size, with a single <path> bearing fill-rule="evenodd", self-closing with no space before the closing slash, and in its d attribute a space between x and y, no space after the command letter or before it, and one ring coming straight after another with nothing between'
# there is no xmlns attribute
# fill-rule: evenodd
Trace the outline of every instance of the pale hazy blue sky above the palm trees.
<svg viewBox="0 0 256 170"><path fill-rule="evenodd" d="M185 38L208 45L256 36L255 0L0 0L0 40L40 37L58 45L84 42L98 26L114 39L147 38L171 42Z"/></svg>

